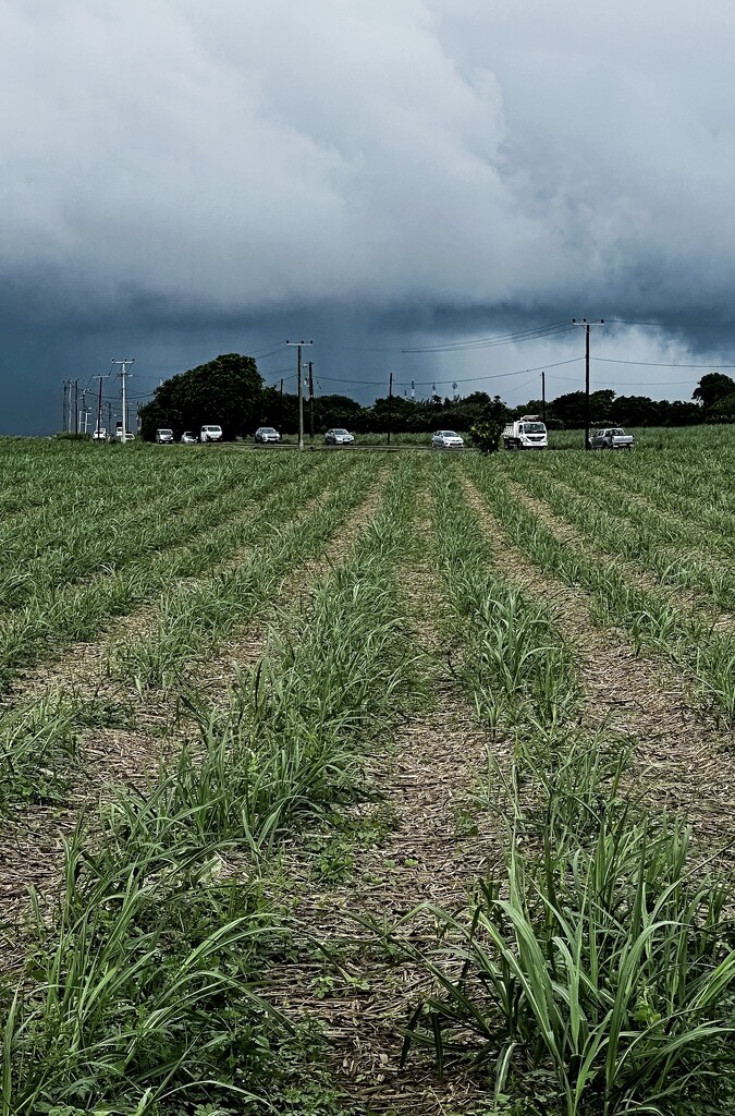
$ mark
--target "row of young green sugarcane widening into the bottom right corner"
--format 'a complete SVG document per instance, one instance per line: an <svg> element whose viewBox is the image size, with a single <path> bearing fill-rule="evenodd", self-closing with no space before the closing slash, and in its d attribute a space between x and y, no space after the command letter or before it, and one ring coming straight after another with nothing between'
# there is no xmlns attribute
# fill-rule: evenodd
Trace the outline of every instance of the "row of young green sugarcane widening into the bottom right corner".
<svg viewBox="0 0 735 1116"><path fill-rule="evenodd" d="M494 570L502 539L485 537L454 472L436 478L435 500L457 673L514 756L494 762L491 744L477 795L505 838L500 866L466 911L433 911L439 947L413 951L435 992L404 1056L420 1046L439 1071L474 1067L489 1112L729 1112L732 881L694 863L681 820L644 808L627 773L634 742L583 725L573 643Z"/></svg>

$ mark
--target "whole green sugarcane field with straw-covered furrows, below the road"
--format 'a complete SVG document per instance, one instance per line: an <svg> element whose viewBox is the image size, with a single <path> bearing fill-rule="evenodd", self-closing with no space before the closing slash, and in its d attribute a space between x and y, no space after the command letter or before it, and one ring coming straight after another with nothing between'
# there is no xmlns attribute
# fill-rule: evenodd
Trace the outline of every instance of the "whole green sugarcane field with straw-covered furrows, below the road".
<svg viewBox="0 0 735 1116"><path fill-rule="evenodd" d="M347 433L0 439L0 1116L734 1113L733 426Z"/></svg>

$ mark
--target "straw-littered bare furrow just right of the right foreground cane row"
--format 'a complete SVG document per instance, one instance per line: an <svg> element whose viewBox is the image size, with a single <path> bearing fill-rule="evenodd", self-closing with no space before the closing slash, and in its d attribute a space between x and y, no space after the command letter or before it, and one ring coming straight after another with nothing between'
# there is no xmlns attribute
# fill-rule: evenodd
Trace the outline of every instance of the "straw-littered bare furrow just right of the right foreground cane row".
<svg viewBox="0 0 735 1116"><path fill-rule="evenodd" d="M510 542L475 485L465 479L464 487L495 543L497 569L545 600L578 650L584 721L636 740L637 775L650 805L686 814L695 836L713 849L735 840L733 733L695 710L692 683L681 673L637 655L615 629L594 627L584 591L545 577Z"/></svg>

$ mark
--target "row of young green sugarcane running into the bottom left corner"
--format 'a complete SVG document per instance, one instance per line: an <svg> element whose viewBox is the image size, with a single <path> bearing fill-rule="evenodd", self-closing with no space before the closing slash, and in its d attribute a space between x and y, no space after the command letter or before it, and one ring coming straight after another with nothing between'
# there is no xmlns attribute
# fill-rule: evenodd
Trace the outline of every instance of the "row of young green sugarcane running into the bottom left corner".
<svg viewBox="0 0 735 1116"><path fill-rule="evenodd" d="M313 1029L268 1002L294 931L262 873L362 793L365 750L414 701L394 577L414 468L393 466L298 639L277 629L224 706L192 701L201 735L175 770L79 820L8 1006L2 1116L302 1112L311 1090L317 1105Z"/></svg>

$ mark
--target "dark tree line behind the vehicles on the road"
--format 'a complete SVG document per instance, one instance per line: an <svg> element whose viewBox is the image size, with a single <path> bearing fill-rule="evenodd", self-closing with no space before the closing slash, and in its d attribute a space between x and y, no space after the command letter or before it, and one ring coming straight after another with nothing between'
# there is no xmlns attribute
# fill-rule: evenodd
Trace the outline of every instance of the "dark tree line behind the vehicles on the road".
<svg viewBox="0 0 735 1116"><path fill-rule="evenodd" d="M346 426L355 433L423 433L433 430L467 431L492 415L510 421L521 414L545 413L551 430L584 425L584 393L568 392L544 404L529 400L509 407L500 396L473 392L461 398L408 400L384 396L364 406L349 395L318 395L304 400L304 430L322 433ZM651 400L645 395L617 395L610 388L590 394L590 419L596 425L692 426L707 422L735 422L735 381L722 373L707 373L690 402ZM258 426L275 426L284 434L299 424L298 396L267 387L253 357L228 353L207 364L164 381L153 400L141 407L141 433L153 441L159 427L171 427L176 437L185 430L199 433L204 423L222 426L225 440L252 437Z"/></svg>

